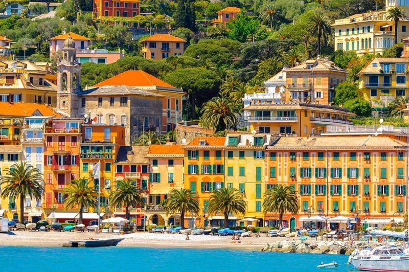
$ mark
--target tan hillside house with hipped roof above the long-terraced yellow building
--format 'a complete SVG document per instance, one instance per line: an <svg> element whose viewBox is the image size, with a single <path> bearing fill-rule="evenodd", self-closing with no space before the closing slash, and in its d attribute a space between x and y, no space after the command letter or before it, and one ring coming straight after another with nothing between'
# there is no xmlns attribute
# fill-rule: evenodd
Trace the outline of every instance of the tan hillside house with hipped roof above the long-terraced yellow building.
<svg viewBox="0 0 409 272"><path fill-rule="evenodd" d="M328 59L310 59L285 70L285 101L331 105L335 87L347 79L347 71Z"/></svg>

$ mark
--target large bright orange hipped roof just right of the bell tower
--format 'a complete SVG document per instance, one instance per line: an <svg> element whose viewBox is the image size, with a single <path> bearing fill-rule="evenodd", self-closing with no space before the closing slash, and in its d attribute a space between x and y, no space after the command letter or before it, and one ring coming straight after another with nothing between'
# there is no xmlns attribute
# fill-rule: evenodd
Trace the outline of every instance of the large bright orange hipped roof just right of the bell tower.
<svg viewBox="0 0 409 272"><path fill-rule="evenodd" d="M166 83L163 80L158 79L144 71L125 71L121 74L108 78L100 83L94 85L94 87L113 86L113 85L127 85L127 86L153 86L175 88L174 86Z"/></svg>

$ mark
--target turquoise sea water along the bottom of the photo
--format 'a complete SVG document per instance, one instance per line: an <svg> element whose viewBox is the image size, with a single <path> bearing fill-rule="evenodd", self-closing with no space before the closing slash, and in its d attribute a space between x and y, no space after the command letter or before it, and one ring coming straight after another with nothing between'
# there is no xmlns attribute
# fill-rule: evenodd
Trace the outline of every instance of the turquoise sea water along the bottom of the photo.
<svg viewBox="0 0 409 272"><path fill-rule="evenodd" d="M145 247L0 247L0 271L317 271L335 261L348 271L348 256Z"/></svg>

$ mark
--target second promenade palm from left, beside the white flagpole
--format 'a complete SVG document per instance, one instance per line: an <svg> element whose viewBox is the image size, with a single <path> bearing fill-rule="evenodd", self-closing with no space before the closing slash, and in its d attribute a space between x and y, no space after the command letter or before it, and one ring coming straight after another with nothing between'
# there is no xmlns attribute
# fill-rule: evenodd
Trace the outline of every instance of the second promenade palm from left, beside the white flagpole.
<svg viewBox="0 0 409 272"><path fill-rule="evenodd" d="M86 178L78 178L71 180L68 187L64 188L64 210L79 207L79 223L82 223L82 211L84 208L95 206L96 191L94 186L89 185L89 180Z"/></svg>

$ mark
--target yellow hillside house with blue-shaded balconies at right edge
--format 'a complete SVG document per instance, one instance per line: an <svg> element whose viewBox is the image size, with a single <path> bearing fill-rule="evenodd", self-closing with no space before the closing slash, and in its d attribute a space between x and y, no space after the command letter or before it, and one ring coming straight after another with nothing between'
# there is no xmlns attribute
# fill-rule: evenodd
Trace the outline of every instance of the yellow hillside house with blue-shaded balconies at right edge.
<svg viewBox="0 0 409 272"><path fill-rule="evenodd" d="M409 58L374 58L359 72L359 90L373 106L388 106L398 96L407 96Z"/></svg>

